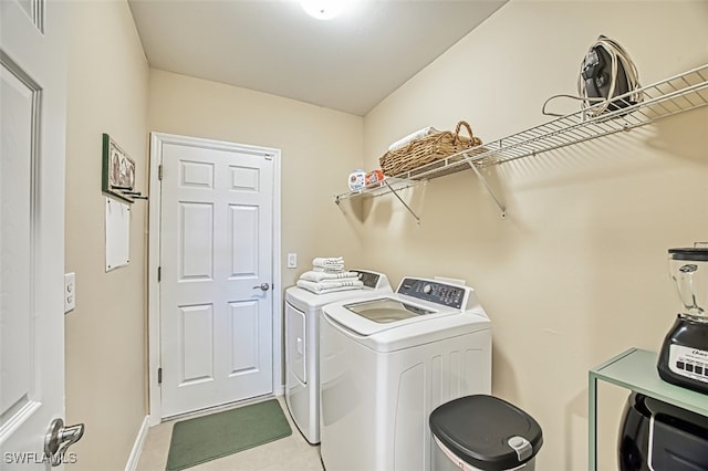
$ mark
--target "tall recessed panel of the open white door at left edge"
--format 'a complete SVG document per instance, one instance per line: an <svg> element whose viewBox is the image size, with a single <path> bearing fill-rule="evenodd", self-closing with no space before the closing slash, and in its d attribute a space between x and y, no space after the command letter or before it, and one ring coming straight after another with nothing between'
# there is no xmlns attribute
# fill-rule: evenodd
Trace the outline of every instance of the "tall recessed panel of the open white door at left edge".
<svg viewBox="0 0 708 471"><path fill-rule="evenodd" d="M32 143L37 136L31 128L38 90L22 83L7 64L0 72L2 80L2 201L0 212L2 241L2 381L0 383L0 417L9 419L13 410L28 406L34 396L32 385L32 260L34 239L32 219L35 217L28 185L32 181L34 156ZM10 128L12 126L12 128ZM6 135L12 134L11 139ZM6 376L12 380L4 380ZM4 422L4 420L3 420ZM2 423L2 422L0 422Z"/></svg>

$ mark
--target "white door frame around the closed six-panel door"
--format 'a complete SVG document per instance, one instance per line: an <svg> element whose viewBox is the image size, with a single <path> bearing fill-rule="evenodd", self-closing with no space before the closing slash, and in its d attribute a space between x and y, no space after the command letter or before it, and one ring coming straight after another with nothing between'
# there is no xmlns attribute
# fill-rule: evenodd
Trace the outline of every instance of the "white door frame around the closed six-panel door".
<svg viewBox="0 0 708 471"><path fill-rule="evenodd" d="M194 145L195 147L208 147L230 151L248 151L268 154L273 157L273 291L272 291L272 390L273 395L282 396L282 294L281 286L281 212L280 212L280 149L272 147L250 146L246 144L225 140L206 139L200 137L183 136L166 133L150 133L149 156L149 211L148 211L148 395L149 395L149 425L155 426L163 420L163 407L160 386L157 381L157 370L160 367L162 339L159 334L160 322L160 285L157 282L157 269L160 253L160 220L162 220L162 181L158 178L164 144Z"/></svg>

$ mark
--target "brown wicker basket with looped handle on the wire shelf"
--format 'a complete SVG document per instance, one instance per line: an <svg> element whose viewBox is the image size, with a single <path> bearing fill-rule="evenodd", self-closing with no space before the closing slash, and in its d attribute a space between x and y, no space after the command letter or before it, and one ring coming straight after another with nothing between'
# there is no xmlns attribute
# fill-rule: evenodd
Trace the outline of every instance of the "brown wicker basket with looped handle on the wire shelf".
<svg viewBox="0 0 708 471"><path fill-rule="evenodd" d="M469 137L460 136L462 126L467 129ZM469 124L461 121L457 124L455 133L441 130L413 139L406 146L384 154L378 163L384 175L394 177L481 144L481 139L472 134Z"/></svg>

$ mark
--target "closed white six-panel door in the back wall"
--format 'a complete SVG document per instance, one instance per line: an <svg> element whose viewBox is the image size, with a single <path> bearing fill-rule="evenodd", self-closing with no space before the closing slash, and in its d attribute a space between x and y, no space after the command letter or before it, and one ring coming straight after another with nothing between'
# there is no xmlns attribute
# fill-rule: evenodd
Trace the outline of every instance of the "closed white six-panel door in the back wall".
<svg viewBox="0 0 708 471"><path fill-rule="evenodd" d="M160 146L162 415L269 394L273 153Z"/></svg>

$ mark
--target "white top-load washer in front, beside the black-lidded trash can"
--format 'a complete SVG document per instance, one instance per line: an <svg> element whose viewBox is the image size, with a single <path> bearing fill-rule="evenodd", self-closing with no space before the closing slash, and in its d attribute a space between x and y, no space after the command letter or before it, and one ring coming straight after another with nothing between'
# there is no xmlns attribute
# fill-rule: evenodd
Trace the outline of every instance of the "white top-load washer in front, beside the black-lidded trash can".
<svg viewBox="0 0 708 471"><path fill-rule="evenodd" d="M468 286L405 278L320 316L320 453L327 471L430 470L428 416L491 391L491 322Z"/></svg>

